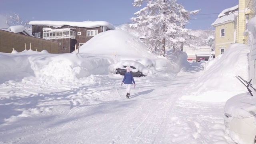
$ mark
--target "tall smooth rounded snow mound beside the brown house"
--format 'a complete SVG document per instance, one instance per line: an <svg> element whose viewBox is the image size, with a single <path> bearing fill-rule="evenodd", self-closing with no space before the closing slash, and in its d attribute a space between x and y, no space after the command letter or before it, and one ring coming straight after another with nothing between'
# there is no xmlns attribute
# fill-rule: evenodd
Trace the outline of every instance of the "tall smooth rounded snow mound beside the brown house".
<svg viewBox="0 0 256 144"><path fill-rule="evenodd" d="M102 47L104 46L104 47ZM147 46L124 30L108 30L94 36L80 47L80 53L117 55L120 60L154 58Z"/></svg>

